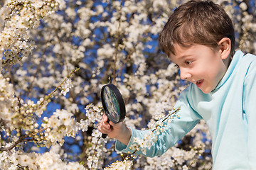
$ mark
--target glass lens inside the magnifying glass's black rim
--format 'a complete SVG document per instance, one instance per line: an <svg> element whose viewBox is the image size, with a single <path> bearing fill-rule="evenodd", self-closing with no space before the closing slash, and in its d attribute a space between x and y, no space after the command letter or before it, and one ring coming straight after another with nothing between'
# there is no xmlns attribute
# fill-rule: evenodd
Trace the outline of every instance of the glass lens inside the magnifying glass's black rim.
<svg viewBox="0 0 256 170"><path fill-rule="evenodd" d="M110 118L113 123L118 123L120 119L119 103L117 96L108 86L106 86L103 91L103 100L106 106L107 117Z"/></svg>

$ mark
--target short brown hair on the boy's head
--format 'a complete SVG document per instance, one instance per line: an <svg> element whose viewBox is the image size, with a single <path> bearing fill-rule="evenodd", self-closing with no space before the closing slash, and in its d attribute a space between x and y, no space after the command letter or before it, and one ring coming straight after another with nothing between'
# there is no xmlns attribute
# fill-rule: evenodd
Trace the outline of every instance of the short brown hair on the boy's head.
<svg viewBox="0 0 256 170"><path fill-rule="evenodd" d="M234 32L233 23L221 6L213 1L192 0L171 14L159 35L159 45L169 55L170 52L175 54L175 43L184 47L199 44L214 48L222 38L230 38L232 57Z"/></svg>

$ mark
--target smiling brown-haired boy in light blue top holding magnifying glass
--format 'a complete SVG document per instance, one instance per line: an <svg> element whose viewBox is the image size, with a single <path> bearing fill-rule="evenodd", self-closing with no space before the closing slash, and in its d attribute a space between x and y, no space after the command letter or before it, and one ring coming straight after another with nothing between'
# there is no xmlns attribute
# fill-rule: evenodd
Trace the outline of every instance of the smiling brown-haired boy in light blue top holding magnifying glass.
<svg viewBox="0 0 256 170"><path fill-rule="evenodd" d="M256 169L256 57L234 54L234 43L233 23L217 4L193 0L176 8L159 45L191 84L174 106L181 108L180 118L167 125L146 157L164 154L203 119L213 140L213 169ZM116 138L121 152L146 132L109 124L106 115L98 129Z"/></svg>

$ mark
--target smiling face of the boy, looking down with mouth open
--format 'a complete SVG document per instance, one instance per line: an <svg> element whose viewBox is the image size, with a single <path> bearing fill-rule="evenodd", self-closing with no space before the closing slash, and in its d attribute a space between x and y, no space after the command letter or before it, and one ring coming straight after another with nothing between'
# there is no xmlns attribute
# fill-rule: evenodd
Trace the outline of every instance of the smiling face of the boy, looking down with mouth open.
<svg viewBox="0 0 256 170"><path fill-rule="evenodd" d="M198 44L190 47L175 44L174 49L175 55L171 53L169 58L179 67L181 79L196 84L205 94L215 89L227 71L221 50Z"/></svg>

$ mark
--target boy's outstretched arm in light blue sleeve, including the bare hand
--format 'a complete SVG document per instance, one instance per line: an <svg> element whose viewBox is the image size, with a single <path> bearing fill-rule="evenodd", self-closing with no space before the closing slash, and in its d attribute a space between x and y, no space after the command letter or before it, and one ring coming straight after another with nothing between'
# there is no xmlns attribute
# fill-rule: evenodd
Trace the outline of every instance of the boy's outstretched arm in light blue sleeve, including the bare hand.
<svg viewBox="0 0 256 170"><path fill-rule="evenodd" d="M188 104L187 92L188 89L181 93L174 106L174 108L181 108L178 112L180 118L174 118L171 123L168 123L167 126L164 127L164 132L161 132L161 134L157 136L157 141L154 145L152 145L151 148L144 148L146 149L144 154L142 153L142 150L136 151L136 154L142 154L146 157L154 157L156 155L159 156L164 154L164 152L174 146L181 137L186 135L186 133L201 120L201 116L193 111L193 108ZM112 125L112 127L110 125ZM136 145L134 145L133 142L134 137L138 140L142 140L144 135L149 132L149 130L134 130L127 128L124 123L107 123L107 115L102 116L98 130L111 138L117 139L116 149L125 153L134 152L134 149L136 148Z"/></svg>

